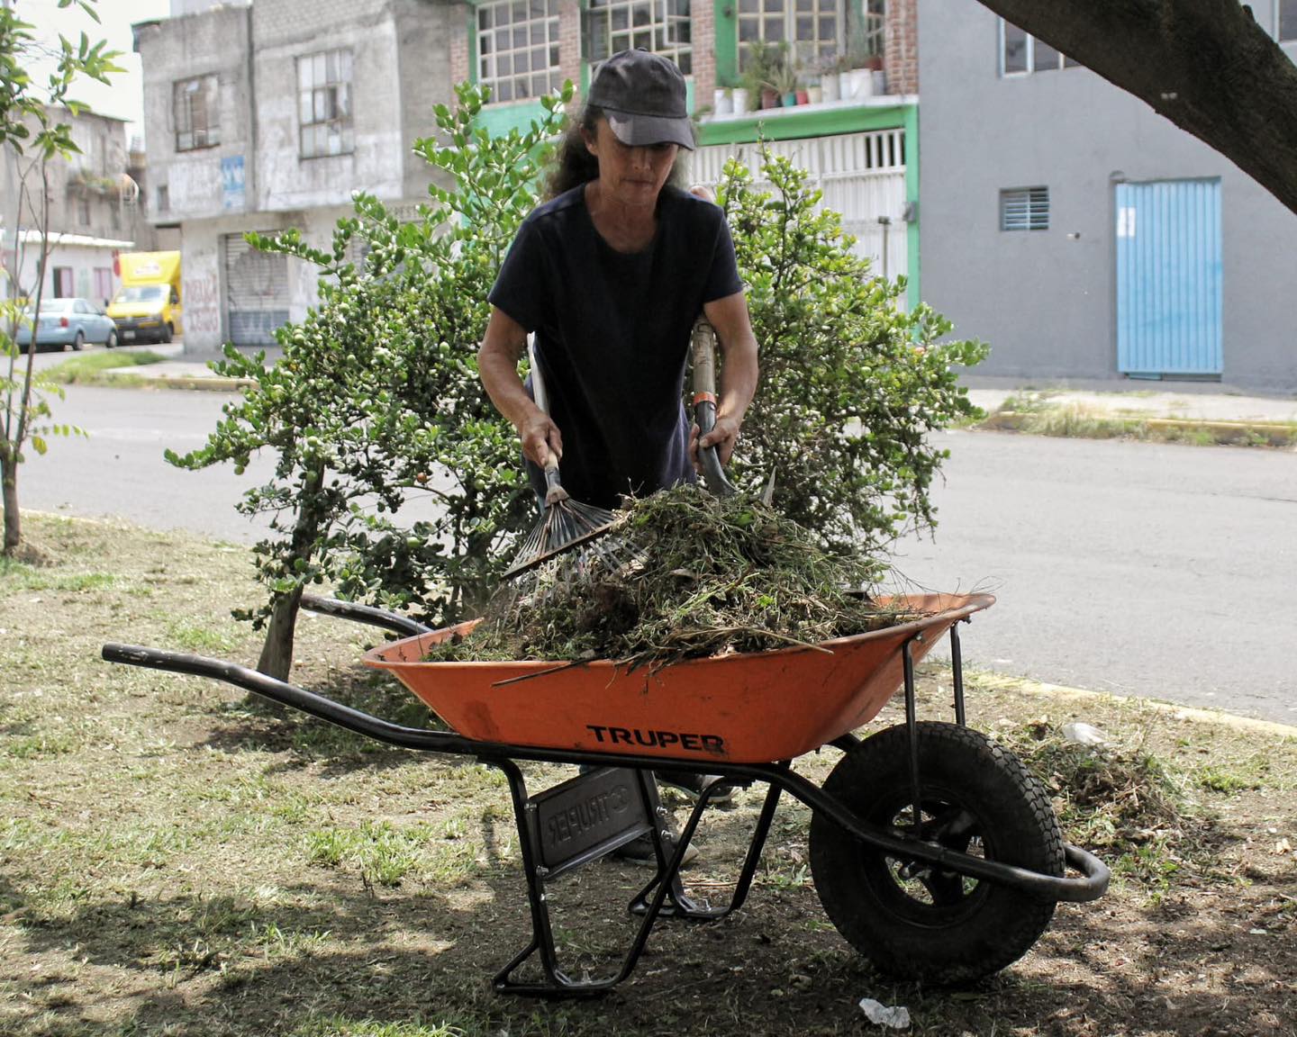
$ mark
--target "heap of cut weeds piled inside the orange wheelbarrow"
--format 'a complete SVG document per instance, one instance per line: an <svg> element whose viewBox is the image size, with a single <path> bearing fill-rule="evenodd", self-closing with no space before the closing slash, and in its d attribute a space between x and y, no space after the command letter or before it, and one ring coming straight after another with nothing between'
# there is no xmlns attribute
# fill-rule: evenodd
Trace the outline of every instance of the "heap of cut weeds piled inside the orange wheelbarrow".
<svg viewBox="0 0 1297 1037"><path fill-rule="evenodd" d="M598 543L611 551L562 556L501 588L471 638L431 657L665 665L914 618L869 600L878 563L826 555L807 530L744 495L663 490L633 500Z"/></svg>

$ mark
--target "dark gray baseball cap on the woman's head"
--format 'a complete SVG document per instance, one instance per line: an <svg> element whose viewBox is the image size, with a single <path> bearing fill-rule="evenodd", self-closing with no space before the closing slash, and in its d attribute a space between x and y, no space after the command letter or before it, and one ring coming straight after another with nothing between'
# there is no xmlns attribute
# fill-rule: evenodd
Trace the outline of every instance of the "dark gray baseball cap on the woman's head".
<svg viewBox="0 0 1297 1037"><path fill-rule="evenodd" d="M676 62L638 49L621 51L599 66L588 101L603 110L623 144L678 144L694 150L685 96L685 76Z"/></svg>

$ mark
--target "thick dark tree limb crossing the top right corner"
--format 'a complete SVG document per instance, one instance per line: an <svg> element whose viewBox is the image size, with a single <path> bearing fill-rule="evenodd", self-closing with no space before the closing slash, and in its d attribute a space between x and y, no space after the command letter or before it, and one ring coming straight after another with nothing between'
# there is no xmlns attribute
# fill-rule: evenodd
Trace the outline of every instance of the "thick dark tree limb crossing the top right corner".
<svg viewBox="0 0 1297 1037"><path fill-rule="evenodd" d="M1239 0L982 0L1297 213L1297 65Z"/></svg>

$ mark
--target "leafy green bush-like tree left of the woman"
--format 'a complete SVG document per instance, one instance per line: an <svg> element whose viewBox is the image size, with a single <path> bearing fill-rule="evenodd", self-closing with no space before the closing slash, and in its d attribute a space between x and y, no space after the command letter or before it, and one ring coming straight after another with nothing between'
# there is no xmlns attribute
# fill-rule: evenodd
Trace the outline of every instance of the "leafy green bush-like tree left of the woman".
<svg viewBox="0 0 1297 1037"><path fill-rule="evenodd" d="M401 224L361 196L331 251L297 232L249 236L261 249L318 264L320 305L276 333L281 360L227 347L215 368L250 379L244 398L184 468L241 467L258 450L278 460L271 482L240 508L271 513L257 544L270 600L248 614L266 626L258 669L284 678L303 588L410 607L434 622L473 613L498 586L511 535L534 517L512 426L477 377L486 296L519 223L536 201L549 141L571 84L542 99L527 131L475 130L485 93L458 89L436 109L442 140L416 150L453 188L431 188L422 219ZM358 268L353 242L367 249ZM412 516L412 517L411 517Z"/></svg>

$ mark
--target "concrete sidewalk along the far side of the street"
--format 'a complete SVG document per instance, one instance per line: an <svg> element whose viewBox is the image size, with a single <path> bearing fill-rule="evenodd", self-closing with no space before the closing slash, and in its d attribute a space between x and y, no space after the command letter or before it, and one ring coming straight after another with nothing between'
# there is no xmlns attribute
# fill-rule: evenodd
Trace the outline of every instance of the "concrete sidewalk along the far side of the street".
<svg viewBox="0 0 1297 1037"><path fill-rule="evenodd" d="M240 386L215 375L208 362L218 354L196 356L183 346L149 346L163 353L156 364L121 368L122 375L148 379L169 388L196 388L236 391ZM283 350L267 347L267 363L275 363ZM256 350L246 350L252 354ZM1060 381L999 379L981 375L965 380L969 399L988 415L1004 410L1006 402L1034 401L1034 406L1074 407L1095 416L1162 419L1201 423L1244 423L1297 425L1297 395L1258 395L1235 391L1219 382L1171 382L1112 379L1105 381Z"/></svg>

